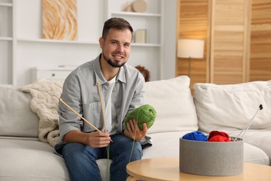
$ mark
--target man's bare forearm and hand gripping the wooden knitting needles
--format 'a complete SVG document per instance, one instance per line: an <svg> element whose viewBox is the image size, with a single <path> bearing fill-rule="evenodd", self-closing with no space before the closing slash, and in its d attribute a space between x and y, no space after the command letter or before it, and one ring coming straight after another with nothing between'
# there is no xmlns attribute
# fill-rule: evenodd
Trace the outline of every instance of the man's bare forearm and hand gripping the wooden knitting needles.
<svg viewBox="0 0 271 181"><path fill-rule="evenodd" d="M79 130L73 130L68 132L64 136L64 141L66 143L83 143L85 145L90 145L92 148L102 148L106 147L110 143L110 136L108 133L104 132L90 132L83 133Z"/></svg>

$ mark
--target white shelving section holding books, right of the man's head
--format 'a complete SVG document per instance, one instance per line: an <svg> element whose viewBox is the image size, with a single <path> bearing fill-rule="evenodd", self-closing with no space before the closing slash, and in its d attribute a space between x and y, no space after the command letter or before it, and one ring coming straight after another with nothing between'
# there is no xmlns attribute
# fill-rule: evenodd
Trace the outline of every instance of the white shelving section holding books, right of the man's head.
<svg viewBox="0 0 271 181"><path fill-rule="evenodd" d="M145 0L147 10L144 13L124 11L126 0L106 0L106 19L110 17L122 17L126 19L133 31L147 29L147 43L132 43L129 64L141 65L150 71L151 80L161 79L163 74L162 62L164 57L164 0ZM130 1L132 3L133 1ZM147 52L144 54L142 52Z"/></svg>

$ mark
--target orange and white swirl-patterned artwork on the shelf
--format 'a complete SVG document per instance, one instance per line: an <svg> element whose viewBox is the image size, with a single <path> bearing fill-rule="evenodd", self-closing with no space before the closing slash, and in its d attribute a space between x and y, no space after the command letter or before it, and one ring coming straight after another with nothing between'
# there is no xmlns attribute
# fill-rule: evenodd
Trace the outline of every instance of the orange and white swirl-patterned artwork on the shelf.
<svg viewBox="0 0 271 181"><path fill-rule="evenodd" d="M42 38L77 40L77 0L42 0Z"/></svg>

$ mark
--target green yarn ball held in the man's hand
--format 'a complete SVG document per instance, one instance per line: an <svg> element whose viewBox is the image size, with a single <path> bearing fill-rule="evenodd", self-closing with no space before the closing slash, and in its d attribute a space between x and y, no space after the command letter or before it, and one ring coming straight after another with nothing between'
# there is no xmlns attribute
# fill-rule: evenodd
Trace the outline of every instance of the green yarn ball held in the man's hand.
<svg viewBox="0 0 271 181"><path fill-rule="evenodd" d="M138 127L140 130L143 129L143 123L147 124L147 128L151 127L154 124L154 120L156 118L156 111L154 107L151 107L149 104L142 105L141 107L138 107L137 109L134 109L129 113L125 119L125 128L128 131L127 124L129 123L129 120L136 119L136 122L138 123Z"/></svg>

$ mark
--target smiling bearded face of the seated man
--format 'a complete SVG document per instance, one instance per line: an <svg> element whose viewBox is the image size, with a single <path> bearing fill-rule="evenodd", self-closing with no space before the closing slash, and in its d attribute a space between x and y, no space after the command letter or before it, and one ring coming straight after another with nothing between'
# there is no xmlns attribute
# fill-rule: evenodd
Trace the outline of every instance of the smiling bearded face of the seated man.
<svg viewBox="0 0 271 181"><path fill-rule="evenodd" d="M102 56L113 68L120 68L129 58L132 34L129 29L110 29L106 40L100 38Z"/></svg>

